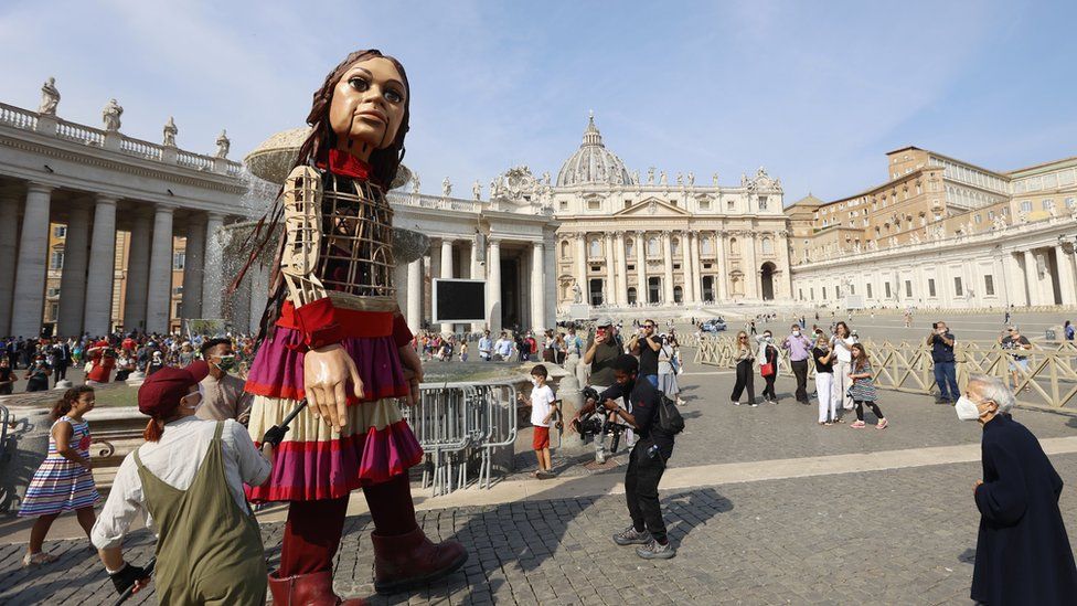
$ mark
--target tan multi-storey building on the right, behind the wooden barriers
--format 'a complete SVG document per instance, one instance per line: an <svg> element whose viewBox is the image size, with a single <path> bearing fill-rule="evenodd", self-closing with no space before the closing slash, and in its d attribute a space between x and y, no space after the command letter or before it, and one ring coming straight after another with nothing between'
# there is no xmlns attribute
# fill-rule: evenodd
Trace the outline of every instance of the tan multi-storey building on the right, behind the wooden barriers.
<svg viewBox="0 0 1077 606"><path fill-rule="evenodd" d="M795 300L1077 305L1077 157L1012 171L916 147L886 157L884 183L787 210Z"/></svg>

